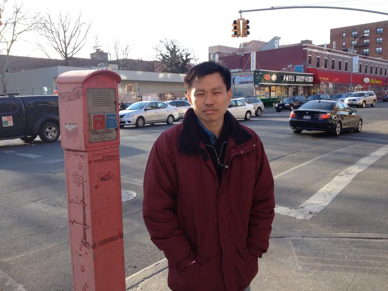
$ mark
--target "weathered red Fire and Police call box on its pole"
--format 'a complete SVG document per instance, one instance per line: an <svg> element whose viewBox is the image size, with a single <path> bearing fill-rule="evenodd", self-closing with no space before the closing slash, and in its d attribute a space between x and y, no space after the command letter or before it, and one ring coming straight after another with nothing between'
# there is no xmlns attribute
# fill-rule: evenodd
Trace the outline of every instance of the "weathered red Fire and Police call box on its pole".
<svg viewBox="0 0 388 291"><path fill-rule="evenodd" d="M118 74L57 78L74 291L124 291Z"/></svg>

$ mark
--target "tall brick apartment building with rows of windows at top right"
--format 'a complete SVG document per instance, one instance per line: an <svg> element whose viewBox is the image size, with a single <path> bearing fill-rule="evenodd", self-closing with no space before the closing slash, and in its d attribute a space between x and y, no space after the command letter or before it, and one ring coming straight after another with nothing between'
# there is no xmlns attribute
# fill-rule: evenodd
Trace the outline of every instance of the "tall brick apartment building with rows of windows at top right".
<svg viewBox="0 0 388 291"><path fill-rule="evenodd" d="M353 43L354 53L388 60L388 20L357 24L330 30L330 48L351 52Z"/></svg>

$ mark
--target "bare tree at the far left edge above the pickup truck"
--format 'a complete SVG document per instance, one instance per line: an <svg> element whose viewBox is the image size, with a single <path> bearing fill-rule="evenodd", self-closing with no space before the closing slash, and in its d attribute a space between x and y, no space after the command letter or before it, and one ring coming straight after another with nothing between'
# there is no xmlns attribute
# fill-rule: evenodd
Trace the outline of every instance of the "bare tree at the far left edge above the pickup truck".
<svg viewBox="0 0 388 291"><path fill-rule="evenodd" d="M8 67L12 63L9 62L11 50L20 35L25 32L35 30L39 18L37 15L30 16L28 12L24 12L23 3L13 4L3 1L1 13L5 19L0 26L0 53L5 55L4 65L0 67L1 87L2 92L7 92L7 84L5 74L8 72Z"/></svg>

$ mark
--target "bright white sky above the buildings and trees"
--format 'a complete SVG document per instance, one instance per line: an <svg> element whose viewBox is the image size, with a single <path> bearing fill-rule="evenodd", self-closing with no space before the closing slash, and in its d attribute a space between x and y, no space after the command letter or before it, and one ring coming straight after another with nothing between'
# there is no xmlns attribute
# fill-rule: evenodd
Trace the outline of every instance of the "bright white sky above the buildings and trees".
<svg viewBox="0 0 388 291"><path fill-rule="evenodd" d="M13 0L9 0L13 1ZM16 0L20 2L20 0ZM149 0L25 0L24 8L31 13L56 17L79 11L84 21L91 21L87 42L76 57L90 58L97 36L105 52L112 51L113 42L130 44L129 58L155 60L155 46L161 39L176 39L182 47L192 49L198 62L208 60L209 46L238 47L250 40L269 41L280 37L280 45L312 40L315 45L330 43L330 29L362 23L388 20L388 16L334 9L284 9L243 13L250 21L250 35L231 37L232 22L240 10L269 8L271 6L338 6L388 12L386 0L273 0L273 1L149 1ZM3 19L6 15L3 14ZM4 20L3 20L4 21ZM44 42L35 33L25 33L16 42L12 55L45 57L36 43ZM49 44L47 44L49 47ZM52 53L51 58L60 58Z"/></svg>

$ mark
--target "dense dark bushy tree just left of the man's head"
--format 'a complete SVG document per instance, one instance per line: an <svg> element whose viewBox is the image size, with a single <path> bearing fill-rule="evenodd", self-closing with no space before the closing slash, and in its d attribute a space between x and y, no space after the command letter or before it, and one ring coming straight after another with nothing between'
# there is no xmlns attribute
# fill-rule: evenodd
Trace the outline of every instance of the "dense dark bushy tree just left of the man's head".
<svg viewBox="0 0 388 291"><path fill-rule="evenodd" d="M162 71L166 73L187 73L190 62L196 61L193 51L183 48L176 39L162 39L154 49L155 57L162 62Z"/></svg>

